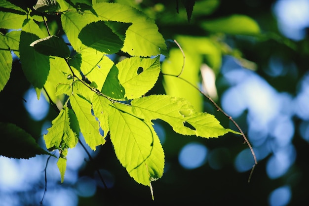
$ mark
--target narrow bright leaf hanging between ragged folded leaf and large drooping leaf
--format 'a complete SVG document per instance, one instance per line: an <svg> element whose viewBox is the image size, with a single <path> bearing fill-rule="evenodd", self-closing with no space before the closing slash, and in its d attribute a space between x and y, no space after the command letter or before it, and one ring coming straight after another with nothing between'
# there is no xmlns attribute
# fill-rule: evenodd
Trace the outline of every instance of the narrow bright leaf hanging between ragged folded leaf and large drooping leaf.
<svg viewBox="0 0 309 206"><path fill-rule="evenodd" d="M99 132L99 123L91 114L91 104L78 94L70 96L70 103L77 116L85 142L92 150L96 150L96 146L103 145L105 139Z"/></svg>

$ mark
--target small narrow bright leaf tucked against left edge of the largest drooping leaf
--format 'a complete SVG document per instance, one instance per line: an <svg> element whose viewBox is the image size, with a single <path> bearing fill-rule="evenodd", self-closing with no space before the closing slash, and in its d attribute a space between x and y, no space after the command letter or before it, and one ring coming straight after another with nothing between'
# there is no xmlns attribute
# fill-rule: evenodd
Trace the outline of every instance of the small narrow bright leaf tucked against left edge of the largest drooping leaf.
<svg viewBox="0 0 309 206"><path fill-rule="evenodd" d="M105 138L107 133L110 131L108 124L108 106L111 104L110 100L106 97L93 94L92 98L92 109L93 114L98 118L100 127L104 131L103 137Z"/></svg>

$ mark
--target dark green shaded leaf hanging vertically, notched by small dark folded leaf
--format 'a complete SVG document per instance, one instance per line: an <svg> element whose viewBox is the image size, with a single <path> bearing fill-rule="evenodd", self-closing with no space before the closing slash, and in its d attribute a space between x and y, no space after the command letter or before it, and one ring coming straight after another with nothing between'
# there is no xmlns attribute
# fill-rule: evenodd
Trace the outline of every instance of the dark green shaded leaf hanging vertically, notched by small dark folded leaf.
<svg viewBox="0 0 309 206"><path fill-rule="evenodd" d="M27 80L35 87L42 88L49 73L49 57L37 52L30 44L39 37L21 32L19 51L22 69Z"/></svg>

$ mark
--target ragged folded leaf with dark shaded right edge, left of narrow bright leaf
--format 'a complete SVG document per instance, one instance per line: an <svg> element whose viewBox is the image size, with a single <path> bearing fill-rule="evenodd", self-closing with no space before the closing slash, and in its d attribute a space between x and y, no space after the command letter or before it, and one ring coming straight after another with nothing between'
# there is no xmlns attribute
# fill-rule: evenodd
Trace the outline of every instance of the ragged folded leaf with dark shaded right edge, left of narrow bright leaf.
<svg viewBox="0 0 309 206"><path fill-rule="evenodd" d="M65 106L52 121L52 126L44 135L48 150L74 148L78 142L79 126L74 112Z"/></svg>

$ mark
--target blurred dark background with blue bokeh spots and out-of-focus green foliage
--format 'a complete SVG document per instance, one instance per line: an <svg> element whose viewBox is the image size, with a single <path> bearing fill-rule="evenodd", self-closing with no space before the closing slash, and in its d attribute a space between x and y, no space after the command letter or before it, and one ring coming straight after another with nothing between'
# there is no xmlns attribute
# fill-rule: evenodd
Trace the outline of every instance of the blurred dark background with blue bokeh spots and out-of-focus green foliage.
<svg viewBox="0 0 309 206"><path fill-rule="evenodd" d="M0 206L39 206L44 171L44 206L309 204L309 0L196 0L190 22L186 1L116 2L155 19L169 46L169 54L161 56L165 74L181 71L183 54L173 40L179 42L186 57L181 77L214 99L252 144L258 165L251 182L254 159L241 136L181 136L155 121L165 168L153 182L154 201L148 187L130 178L107 141L95 152L87 148L93 160L80 144L69 150L63 184L55 158L0 157ZM48 23L57 30L57 21ZM160 75L149 94L161 93L184 96L196 110L236 130L185 82ZM45 148L42 135L57 113L44 98L37 100L18 59L0 99L0 121L25 128Z"/></svg>

